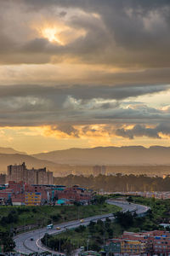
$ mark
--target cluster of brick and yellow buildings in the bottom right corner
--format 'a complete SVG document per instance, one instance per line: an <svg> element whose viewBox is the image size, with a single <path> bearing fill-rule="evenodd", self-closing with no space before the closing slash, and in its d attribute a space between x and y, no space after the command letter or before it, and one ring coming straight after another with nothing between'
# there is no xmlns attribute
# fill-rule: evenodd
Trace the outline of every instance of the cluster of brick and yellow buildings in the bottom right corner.
<svg viewBox="0 0 170 256"><path fill-rule="evenodd" d="M170 255L170 233L163 230L124 232L120 238L107 241L106 253L121 255Z"/></svg>

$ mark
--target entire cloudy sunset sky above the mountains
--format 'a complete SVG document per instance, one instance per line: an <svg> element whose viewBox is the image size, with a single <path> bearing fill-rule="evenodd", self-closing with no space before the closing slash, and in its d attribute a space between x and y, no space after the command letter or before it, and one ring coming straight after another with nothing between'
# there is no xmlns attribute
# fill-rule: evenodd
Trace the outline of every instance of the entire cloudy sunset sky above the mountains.
<svg viewBox="0 0 170 256"><path fill-rule="evenodd" d="M169 0L0 0L0 146L170 146Z"/></svg>

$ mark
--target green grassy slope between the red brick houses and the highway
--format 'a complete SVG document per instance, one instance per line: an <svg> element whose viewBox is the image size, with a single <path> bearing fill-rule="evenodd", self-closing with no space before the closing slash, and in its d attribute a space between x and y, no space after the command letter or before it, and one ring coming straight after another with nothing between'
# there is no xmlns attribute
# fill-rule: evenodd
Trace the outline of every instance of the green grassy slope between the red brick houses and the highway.
<svg viewBox="0 0 170 256"><path fill-rule="evenodd" d="M118 210L119 207L105 203L89 206L0 207L0 231L9 231L30 224L38 224L38 227L52 222L58 224Z"/></svg>

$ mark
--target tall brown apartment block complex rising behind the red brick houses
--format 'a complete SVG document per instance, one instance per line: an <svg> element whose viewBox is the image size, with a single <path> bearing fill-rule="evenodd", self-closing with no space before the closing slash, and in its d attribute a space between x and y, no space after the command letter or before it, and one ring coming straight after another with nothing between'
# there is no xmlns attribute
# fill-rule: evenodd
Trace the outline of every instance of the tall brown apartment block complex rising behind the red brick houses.
<svg viewBox="0 0 170 256"><path fill-rule="evenodd" d="M9 181L41 185L53 184L53 172L47 172L46 168L29 170L23 162L21 165L8 166L7 182Z"/></svg>

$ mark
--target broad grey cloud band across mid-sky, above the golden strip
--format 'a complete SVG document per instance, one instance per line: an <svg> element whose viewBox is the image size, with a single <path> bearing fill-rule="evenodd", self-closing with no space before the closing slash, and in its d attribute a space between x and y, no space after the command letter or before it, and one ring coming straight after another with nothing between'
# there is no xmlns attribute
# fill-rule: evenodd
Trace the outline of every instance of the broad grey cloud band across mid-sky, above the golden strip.
<svg viewBox="0 0 170 256"><path fill-rule="evenodd" d="M150 122L169 118L168 108L129 102L137 96L166 92L169 86L0 86L0 124L58 125L77 136L71 125Z"/></svg>

